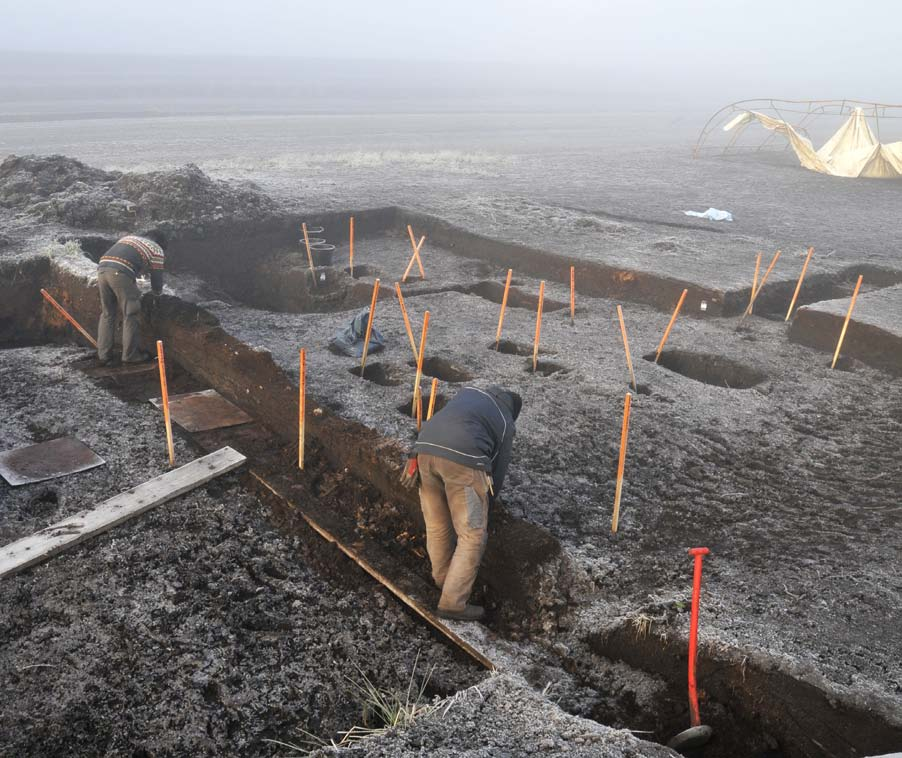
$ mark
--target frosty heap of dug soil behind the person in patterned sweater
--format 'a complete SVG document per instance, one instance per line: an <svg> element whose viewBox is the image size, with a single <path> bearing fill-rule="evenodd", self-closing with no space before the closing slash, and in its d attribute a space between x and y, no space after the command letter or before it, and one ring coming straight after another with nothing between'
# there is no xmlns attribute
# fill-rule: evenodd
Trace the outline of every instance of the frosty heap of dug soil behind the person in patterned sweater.
<svg viewBox="0 0 902 758"><path fill-rule="evenodd" d="M153 224L198 234L225 220L265 220L277 210L255 186L211 179L193 164L133 174L61 155L11 155L0 163L0 207L82 229Z"/></svg>

